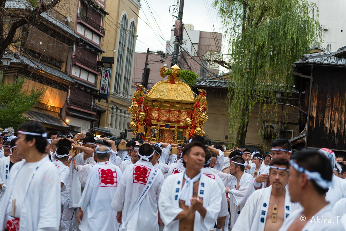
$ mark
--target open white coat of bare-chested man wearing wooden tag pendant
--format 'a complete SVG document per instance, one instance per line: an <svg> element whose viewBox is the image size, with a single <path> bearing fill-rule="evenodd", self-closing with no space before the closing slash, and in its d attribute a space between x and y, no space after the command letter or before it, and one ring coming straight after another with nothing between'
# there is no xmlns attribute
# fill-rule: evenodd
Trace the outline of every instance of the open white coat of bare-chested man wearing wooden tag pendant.
<svg viewBox="0 0 346 231"><path fill-rule="evenodd" d="M272 185L267 188L261 188L253 192L247 199L245 206L240 212L236 223L232 230L234 231L263 231L267 219L267 213L271 213L271 208L268 208L270 196L272 194ZM285 187L284 201L284 222L289 215L299 209L299 203L291 202L291 197L287 187ZM269 211L268 211L269 210Z"/></svg>

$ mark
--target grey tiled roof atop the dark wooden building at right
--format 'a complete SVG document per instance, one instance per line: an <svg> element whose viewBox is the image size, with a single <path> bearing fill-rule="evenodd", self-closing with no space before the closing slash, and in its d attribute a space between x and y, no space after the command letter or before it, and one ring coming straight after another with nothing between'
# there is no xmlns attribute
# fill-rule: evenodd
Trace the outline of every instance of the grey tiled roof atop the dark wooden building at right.
<svg viewBox="0 0 346 231"><path fill-rule="evenodd" d="M317 65L331 65L331 66L346 66L346 58L339 58L339 53L344 52L340 50L333 54L329 52L319 52L313 54L302 55L299 61L294 64L317 64Z"/></svg>

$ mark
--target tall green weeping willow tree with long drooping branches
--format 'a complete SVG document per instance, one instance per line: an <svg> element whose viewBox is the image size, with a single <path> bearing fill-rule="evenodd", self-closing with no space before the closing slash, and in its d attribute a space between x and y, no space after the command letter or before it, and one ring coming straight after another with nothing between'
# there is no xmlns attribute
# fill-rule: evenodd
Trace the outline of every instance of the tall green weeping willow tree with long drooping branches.
<svg viewBox="0 0 346 231"><path fill-rule="evenodd" d="M307 0L215 0L213 6L231 54L229 140L242 146L254 105L260 108L258 121L264 119L267 103L276 114L273 91L290 94L291 64L320 41L318 10ZM263 138L263 130L259 133Z"/></svg>

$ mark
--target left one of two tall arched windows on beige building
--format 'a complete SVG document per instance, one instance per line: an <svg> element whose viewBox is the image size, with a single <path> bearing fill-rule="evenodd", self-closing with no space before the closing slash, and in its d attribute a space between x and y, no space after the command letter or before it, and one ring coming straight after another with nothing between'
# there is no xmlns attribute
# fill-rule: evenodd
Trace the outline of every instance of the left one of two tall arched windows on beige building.
<svg viewBox="0 0 346 231"><path fill-rule="evenodd" d="M127 28L127 17L122 16L120 37L119 37L119 47L118 47L118 57L117 57L117 68L115 70L115 82L114 82L114 92L119 92L122 84L122 71L124 69L124 55L126 54L126 28Z"/></svg>

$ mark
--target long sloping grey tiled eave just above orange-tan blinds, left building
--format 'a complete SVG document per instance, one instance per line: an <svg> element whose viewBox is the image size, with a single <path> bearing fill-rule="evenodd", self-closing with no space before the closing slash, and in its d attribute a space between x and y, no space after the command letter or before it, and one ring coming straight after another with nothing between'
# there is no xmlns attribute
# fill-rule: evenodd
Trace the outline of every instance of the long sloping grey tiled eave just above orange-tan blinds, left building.
<svg viewBox="0 0 346 231"><path fill-rule="evenodd" d="M35 61L34 59L28 58L28 57L21 55L21 54L18 54L18 53L16 53L16 56L13 54L9 54L9 55L12 58L11 63L23 63L23 64L26 64L30 67L33 67L39 71L43 71L47 74L56 76L58 78L62 78L63 80L66 80L67 82L74 83L72 78L62 71L56 70L56 69L54 69L48 65L45 65L43 63L39 63L39 62Z"/></svg>

